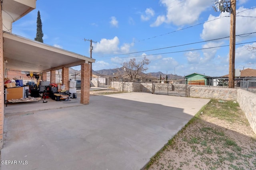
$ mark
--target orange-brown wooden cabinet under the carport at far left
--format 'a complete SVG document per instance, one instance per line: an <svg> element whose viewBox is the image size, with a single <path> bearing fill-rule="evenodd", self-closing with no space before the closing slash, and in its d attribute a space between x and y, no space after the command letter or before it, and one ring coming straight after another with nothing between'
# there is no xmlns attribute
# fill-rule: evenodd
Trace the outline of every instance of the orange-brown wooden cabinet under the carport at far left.
<svg viewBox="0 0 256 170"><path fill-rule="evenodd" d="M24 87L5 89L5 100L24 98Z"/></svg>

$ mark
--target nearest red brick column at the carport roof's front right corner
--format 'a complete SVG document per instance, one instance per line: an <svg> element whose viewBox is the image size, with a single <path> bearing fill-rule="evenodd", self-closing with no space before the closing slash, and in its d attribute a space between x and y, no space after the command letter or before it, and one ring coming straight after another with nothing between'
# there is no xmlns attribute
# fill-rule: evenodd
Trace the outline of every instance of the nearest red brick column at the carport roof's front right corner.
<svg viewBox="0 0 256 170"><path fill-rule="evenodd" d="M90 98L90 64L81 64L81 104L89 104Z"/></svg>

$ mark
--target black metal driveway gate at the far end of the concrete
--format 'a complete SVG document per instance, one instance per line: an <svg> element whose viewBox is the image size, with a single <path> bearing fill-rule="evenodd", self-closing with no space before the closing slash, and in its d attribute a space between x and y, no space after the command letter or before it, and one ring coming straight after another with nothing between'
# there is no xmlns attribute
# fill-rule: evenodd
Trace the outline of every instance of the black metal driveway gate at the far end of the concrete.
<svg viewBox="0 0 256 170"><path fill-rule="evenodd" d="M188 96L188 85L185 80L160 81L153 80L152 93L170 96Z"/></svg>

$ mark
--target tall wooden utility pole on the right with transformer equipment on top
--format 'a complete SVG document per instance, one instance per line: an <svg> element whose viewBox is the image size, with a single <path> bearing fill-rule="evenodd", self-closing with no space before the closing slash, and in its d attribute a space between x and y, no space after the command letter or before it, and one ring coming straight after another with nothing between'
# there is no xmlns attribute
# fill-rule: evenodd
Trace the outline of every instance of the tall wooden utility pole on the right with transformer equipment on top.
<svg viewBox="0 0 256 170"><path fill-rule="evenodd" d="M215 0L214 11L230 12L230 40L229 40L229 73L228 88L235 87L235 52L236 52L236 0Z"/></svg>

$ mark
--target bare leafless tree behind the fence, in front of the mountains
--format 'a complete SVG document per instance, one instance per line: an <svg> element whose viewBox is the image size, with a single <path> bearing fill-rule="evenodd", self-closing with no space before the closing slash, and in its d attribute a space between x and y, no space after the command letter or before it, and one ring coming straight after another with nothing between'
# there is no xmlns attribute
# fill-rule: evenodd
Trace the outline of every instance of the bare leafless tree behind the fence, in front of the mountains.
<svg viewBox="0 0 256 170"><path fill-rule="evenodd" d="M141 72L148 70L146 65L150 63L149 59L146 56L142 59L142 61L136 63L136 59L130 59L129 62L124 62L122 66L124 67L124 71L128 74L128 77L134 82L136 80L136 76Z"/></svg>

